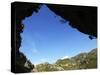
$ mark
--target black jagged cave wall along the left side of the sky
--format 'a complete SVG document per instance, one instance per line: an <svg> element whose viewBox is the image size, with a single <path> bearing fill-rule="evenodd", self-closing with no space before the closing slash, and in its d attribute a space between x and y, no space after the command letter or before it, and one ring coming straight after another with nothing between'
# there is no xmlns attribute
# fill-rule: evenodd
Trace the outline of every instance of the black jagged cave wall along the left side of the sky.
<svg viewBox="0 0 100 75"><path fill-rule="evenodd" d="M31 16L31 14L34 12L37 12L37 9L39 9L38 4L32 4L32 3L20 3L20 2L14 2L11 4L11 71L15 73L25 73L30 72L31 69L28 69L24 67L25 62L27 61L27 58L19 51L19 48L21 46L21 36L20 33L23 32L23 24L22 20L25 17Z"/></svg>

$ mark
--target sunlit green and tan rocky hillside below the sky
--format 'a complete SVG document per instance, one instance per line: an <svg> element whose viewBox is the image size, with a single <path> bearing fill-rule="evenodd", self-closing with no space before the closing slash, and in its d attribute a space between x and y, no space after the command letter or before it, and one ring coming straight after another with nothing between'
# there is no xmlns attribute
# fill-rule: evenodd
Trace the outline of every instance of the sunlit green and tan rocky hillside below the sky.
<svg viewBox="0 0 100 75"><path fill-rule="evenodd" d="M46 62L36 65L39 72L93 68L97 68L97 49L93 49L88 53L80 53L71 58L58 59L54 64Z"/></svg>

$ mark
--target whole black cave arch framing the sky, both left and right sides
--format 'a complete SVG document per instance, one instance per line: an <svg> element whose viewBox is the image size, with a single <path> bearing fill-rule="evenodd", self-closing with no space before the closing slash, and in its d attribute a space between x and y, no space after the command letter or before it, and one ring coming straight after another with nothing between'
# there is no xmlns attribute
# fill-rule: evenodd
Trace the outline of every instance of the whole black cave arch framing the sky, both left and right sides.
<svg viewBox="0 0 100 75"><path fill-rule="evenodd" d="M11 4L11 64L12 72L23 73L30 72L23 65L16 63L17 57L20 59L21 54L19 48L21 46L21 36L23 32L22 20L25 17L29 17L33 12L38 12L41 3L25 3L25 2L14 2ZM46 4L47 7L53 11L55 14L61 16L65 20L70 21L70 25L80 32L97 37L97 7L85 7L85 6L64 6L64 5L54 5ZM66 33L67 34L67 33ZM24 56L23 60L27 60ZM22 62L25 64L25 61ZM20 68L20 69L19 69Z"/></svg>

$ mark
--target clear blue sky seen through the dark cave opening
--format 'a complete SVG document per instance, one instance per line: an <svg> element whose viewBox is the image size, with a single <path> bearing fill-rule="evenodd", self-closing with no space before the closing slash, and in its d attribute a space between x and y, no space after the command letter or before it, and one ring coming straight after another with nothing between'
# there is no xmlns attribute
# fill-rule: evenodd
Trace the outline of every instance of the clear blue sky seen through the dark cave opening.
<svg viewBox="0 0 100 75"><path fill-rule="evenodd" d="M97 40L69 26L69 22L50 11L45 5L38 13L26 17L22 23L20 51L33 63L53 63L97 47Z"/></svg>

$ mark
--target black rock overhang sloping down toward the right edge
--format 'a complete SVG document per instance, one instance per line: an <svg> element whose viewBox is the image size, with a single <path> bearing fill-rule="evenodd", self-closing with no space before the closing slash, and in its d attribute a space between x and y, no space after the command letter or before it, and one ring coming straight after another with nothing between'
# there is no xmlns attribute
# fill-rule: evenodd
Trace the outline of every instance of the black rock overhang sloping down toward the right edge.
<svg viewBox="0 0 100 75"><path fill-rule="evenodd" d="M97 7L52 5L48 8L82 33L97 37Z"/></svg>

